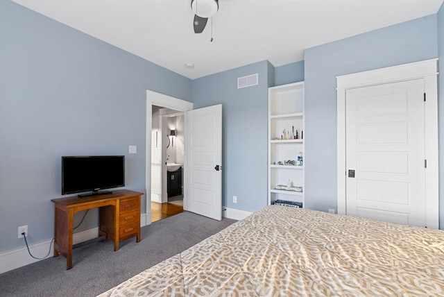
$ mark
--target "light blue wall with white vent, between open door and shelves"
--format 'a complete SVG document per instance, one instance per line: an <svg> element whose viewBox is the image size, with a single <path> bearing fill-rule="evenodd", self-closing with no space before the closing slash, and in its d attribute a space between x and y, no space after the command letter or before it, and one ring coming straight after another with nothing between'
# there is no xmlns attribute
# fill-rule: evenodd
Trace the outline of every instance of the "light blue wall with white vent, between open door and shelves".
<svg viewBox="0 0 444 297"><path fill-rule="evenodd" d="M194 108L222 104L222 205L253 212L267 203L268 61L193 80ZM237 78L259 85L237 89ZM237 203L232 202L237 196Z"/></svg>

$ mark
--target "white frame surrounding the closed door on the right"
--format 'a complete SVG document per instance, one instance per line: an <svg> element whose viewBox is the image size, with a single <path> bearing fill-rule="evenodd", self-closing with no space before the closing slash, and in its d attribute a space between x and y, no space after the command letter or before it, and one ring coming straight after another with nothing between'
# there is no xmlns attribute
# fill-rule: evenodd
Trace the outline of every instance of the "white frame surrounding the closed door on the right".
<svg viewBox="0 0 444 297"><path fill-rule="evenodd" d="M345 92L357 87L395 83L422 78L427 94L425 102L425 201L428 228L439 228L438 195L438 59L413 62L394 67L336 76L337 90L337 207L339 214L347 214L345 162Z"/></svg>

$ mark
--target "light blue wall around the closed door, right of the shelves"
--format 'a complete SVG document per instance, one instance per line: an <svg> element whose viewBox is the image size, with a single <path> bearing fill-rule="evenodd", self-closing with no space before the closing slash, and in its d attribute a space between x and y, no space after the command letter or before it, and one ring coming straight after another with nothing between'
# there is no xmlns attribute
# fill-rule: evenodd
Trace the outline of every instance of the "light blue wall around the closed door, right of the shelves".
<svg viewBox="0 0 444 297"><path fill-rule="evenodd" d="M436 34L437 16L430 15L305 51L305 205L308 208L337 210L336 76L436 58ZM441 196L441 205L443 202Z"/></svg>

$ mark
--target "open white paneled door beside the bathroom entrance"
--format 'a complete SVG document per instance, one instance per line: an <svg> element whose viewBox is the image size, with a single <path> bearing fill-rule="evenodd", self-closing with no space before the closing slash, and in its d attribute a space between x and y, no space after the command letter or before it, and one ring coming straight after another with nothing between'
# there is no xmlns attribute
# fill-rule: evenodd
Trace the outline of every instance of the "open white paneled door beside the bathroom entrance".
<svg viewBox="0 0 444 297"><path fill-rule="evenodd" d="M187 112L187 210L221 221L222 105Z"/></svg>

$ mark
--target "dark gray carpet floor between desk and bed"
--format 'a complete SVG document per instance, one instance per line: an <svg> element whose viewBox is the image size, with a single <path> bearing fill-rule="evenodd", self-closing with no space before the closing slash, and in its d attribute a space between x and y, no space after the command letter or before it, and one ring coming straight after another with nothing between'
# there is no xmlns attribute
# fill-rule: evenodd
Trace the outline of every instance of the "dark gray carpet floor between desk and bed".
<svg viewBox="0 0 444 297"><path fill-rule="evenodd" d="M142 240L87 244L73 251L73 268L62 255L0 275L0 296L96 296L176 255L235 221L182 212L142 228ZM32 251L31 251L32 252Z"/></svg>

